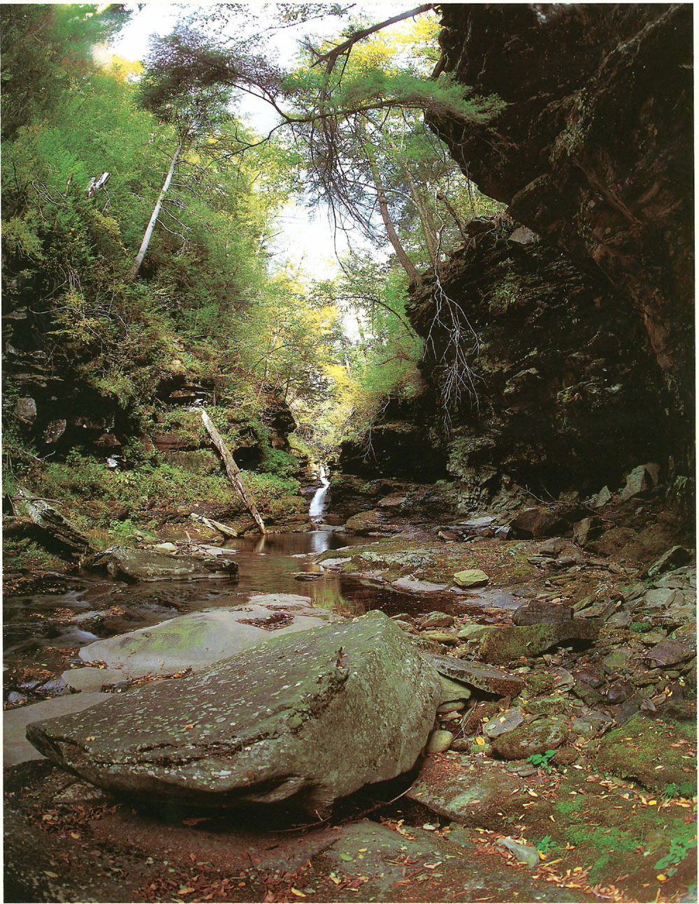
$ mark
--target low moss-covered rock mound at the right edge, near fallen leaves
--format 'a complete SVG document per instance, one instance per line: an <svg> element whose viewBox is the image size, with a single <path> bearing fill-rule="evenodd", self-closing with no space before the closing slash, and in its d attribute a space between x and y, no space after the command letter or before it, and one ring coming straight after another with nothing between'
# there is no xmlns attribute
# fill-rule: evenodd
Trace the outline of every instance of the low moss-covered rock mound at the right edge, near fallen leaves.
<svg viewBox="0 0 699 904"><path fill-rule="evenodd" d="M696 794L696 724L637 713L600 742L596 766L651 791Z"/></svg>

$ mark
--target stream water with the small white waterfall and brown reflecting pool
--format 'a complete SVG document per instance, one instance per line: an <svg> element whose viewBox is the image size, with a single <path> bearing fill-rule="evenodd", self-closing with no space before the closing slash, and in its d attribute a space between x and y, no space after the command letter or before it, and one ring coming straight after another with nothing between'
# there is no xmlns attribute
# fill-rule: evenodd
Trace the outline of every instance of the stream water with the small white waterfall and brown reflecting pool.
<svg viewBox="0 0 699 904"><path fill-rule="evenodd" d="M64 593L5 598L5 668L60 672L75 651L94 640L157 624L183 612L237 606L256 593L295 593L313 605L344 615L380 608L387 615L416 615L440 607L434 598L387 589L376 583L324 571L319 553L366 544L323 523L329 481L312 497L310 516L319 528L305 533L239 537L224 543L238 562L237 579L159 580L126 583L84 573L70 579ZM310 578L317 574L315 579ZM68 656L68 658L66 658ZM8 685L5 692L12 688Z"/></svg>

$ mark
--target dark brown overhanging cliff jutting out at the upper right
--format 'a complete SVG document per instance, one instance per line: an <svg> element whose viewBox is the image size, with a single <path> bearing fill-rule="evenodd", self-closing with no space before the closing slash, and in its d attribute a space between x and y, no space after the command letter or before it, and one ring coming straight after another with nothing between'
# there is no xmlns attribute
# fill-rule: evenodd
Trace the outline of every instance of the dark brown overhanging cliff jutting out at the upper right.
<svg viewBox="0 0 699 904"><path fill-rule="evenodd" d="M593 283L607 283L602 324L614 328L630 307L632 358L645 360L645 345L662 378L659 408L668 413L653 429L666 432L679 470L691 474L692 6L453 4L442 12L444 69L508 106L487 126L438 117L430 125L482 192L507 202ZM631 368L622 383L648 379L655 385L646 369ZM638 418L640 428L645 412Z"/></svg>

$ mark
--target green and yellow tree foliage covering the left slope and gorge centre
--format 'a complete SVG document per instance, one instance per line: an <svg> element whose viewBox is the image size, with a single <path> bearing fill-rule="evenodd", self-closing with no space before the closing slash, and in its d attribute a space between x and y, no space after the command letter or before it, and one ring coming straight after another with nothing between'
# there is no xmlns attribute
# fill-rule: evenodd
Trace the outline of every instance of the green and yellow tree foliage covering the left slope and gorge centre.
<svg viewBox="0 0 699 904"><path fill-rule="evenodd" d="M295 20L321 9L303 8L281 16ZM378 167L389 215L417 267L433 266L437 229L440 253L451 250L461 240L461 216L488 203L424 131L424 111L448 110L476 124L501 105L450 78L425 79L438 51L433 16L395 39L379 33L361 42L324 84L323 69L305 63L282 83L253 43L234 42L230 52L192 29L156 41L145 70L123 60L100 66L93 46L125 20L121 9L0 9L2 278L7 310L29 306L37 318L27 347L40 344L51 376L98 399L106 422L113 413L128 434L120 435L121 451L131 470L109 470L77 451L62 462L41 461L41 438L34 438L38 451L31 429L14 417L10 377L5 485L27 482L68 504L89 500L92 507L78 515L82 526L108 528L124 540L156 510L228 503L222 469L206 456L163 464L137 439L173 432L190 449L208 447L197 413L168 410L163 401L181 381L210 391L207 408L231 447L259 447L260 473L249 481L266 516L298 514L304 503L294 480L297 458L270 447L266 409L286 401L300 425L297 448L326 457L342 438L362 435L387 400L420 391L422 344L406 315L408 278L395 260L355 254L341 278L317 283L271 263L268 237L285 202L324 184L312 166L322 160L318 146L304 146L318 137L311 119L317 121L322 95L352 176L357 203L350 212L384 240ZM229 112L231 89L241 80L249 88L254 79L287 105L293 140L260 143ZM180 141L139 278L129 282ZM107 183L89 193L103 173ZM440 193L452 199L448 206ZM39 437L41 428L37 422Z"/></svg>

